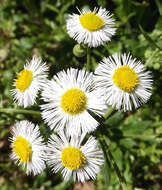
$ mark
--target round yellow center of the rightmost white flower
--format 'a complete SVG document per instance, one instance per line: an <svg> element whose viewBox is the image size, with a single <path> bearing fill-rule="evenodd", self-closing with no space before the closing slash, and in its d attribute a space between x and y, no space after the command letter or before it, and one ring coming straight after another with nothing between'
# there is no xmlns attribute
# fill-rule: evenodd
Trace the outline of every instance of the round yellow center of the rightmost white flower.
<svg viewBox="0 0 162 190"><path fill-rule="evenodd" d="M139 80L134 69L124 65L115 70L113 82L125 92L132 92L138 85Z"/></svg>

